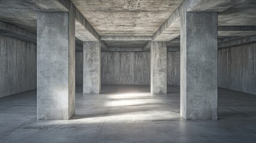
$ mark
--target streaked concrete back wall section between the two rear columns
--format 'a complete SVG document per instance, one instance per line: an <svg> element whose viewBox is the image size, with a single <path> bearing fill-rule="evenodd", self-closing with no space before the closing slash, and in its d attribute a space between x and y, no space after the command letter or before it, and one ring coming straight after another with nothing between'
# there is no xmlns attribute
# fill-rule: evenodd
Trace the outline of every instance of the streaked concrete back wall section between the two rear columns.
<svg viewBox="0 0 256 143"><path fill-rule="evenodd" d="M150 52L101 52L101 83L149 85Z"/></svg>

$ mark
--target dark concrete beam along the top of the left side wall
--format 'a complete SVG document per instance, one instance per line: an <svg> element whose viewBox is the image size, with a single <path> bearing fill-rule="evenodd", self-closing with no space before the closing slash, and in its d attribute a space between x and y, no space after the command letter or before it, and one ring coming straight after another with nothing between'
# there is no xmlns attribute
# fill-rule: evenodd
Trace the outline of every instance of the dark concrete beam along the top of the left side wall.
<svg viewBox="0 0 256 143"><path fill-rule="evenodd" d="M13 24L4 23L0 21L0 35L8 36L11 38L20 39L22 41L36 43L36 34L21 29Z"/></svg>

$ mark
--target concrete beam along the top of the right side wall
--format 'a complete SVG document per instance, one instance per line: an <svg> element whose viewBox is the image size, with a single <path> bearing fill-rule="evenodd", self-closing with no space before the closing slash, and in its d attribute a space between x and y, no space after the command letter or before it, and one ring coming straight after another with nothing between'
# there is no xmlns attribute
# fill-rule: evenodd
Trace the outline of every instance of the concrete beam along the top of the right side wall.
<svg viewBox="0 0 256 143"><path fill-rule="evenodd" d="M232 46L238 46L243 45L246 43L255 43L256 42L256 36L249 36L245 38L235 39L227 42L218 43L218 48L229 48Z"/></svg>

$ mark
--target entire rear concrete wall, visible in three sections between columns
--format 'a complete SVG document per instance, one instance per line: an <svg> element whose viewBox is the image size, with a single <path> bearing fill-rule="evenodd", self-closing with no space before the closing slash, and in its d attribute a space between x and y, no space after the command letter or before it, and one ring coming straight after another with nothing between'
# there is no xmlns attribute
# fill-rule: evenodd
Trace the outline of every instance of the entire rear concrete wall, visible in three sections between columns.
<svg viewBox="0 0 256 143"><path fill-rule="evenodd" d="M180 85L180 52L167 52L167 83ZM82 52L76 52L76 85L82 85ZM101 52L101 84L149 85L150 52Z"/></svg>

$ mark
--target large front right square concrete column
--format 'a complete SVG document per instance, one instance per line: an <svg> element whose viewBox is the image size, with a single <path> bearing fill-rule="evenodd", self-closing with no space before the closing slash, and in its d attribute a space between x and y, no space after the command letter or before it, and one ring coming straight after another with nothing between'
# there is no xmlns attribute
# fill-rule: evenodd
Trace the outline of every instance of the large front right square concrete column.
<svg viewBox="0 0 256 143"><path fill-rule="evenodd" d="M184 119L217 119L215 12L181 14L180 111Z"/></svg>

